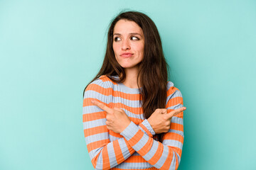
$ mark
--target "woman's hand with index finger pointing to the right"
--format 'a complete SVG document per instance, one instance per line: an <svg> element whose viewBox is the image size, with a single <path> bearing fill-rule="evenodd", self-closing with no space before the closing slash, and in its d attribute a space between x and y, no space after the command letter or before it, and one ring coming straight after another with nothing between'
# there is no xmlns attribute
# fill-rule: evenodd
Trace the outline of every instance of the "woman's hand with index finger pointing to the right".
<svg viewBox="0 0 256 170"><path fill-rule="evenodd" d="M156 108L156 111L147 120L156 134L168 132L171 125L171 118L185 110L186 107L182 107L167 113L166 108Z"/></svg>

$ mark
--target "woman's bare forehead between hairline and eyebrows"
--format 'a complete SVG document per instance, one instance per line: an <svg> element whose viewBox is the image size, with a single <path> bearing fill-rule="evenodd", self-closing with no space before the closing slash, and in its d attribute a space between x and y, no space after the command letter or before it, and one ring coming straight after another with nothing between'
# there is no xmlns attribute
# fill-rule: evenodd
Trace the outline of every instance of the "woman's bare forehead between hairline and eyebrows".
<svg viewBox="0 0 256 170"><path fill-rule="evenodd" d="M141 33L143 34L142 28L139 27L134 21L119 20L114 26L114 33L125 34L125 33Z"/></svg>

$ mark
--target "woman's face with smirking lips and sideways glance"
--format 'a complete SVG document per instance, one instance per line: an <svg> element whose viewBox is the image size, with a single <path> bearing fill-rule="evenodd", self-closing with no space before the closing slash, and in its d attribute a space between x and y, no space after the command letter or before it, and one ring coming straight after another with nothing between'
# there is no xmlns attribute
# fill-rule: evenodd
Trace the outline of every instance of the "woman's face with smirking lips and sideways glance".
<svg viewBox="0 0 256 170"><path fill-rule="evenodd" d="M113 50L124 69L138 68L144 57L144 34L134 21L119 20L114 26Z"/></svg>

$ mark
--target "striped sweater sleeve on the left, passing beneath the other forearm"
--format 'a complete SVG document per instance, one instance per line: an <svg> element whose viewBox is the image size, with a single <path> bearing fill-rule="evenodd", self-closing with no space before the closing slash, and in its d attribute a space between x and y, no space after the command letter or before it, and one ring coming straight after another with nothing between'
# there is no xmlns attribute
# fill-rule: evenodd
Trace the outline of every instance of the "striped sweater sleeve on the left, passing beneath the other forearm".
<svg viewBox="0 0 256 170"><path fill-rule="evenodd" d="M111 107L111 88L109 85L99 79L93 81L85 89L83 100L82 120L85 142L95 169L110 169L124 162L135 152L121 135L118 140L110 142L110 131L105 123L105 111L90 103L93 98ZM155 134L147 120L136 127L149 137Z"/></svg>

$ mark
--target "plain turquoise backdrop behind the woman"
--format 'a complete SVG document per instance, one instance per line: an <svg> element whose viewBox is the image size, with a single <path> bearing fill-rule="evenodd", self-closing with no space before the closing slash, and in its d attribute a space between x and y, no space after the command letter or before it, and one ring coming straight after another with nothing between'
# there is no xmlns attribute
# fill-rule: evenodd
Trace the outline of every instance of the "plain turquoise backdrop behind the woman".
<svg viewBox="0 0 256 170"><path fill-rule="evenodd" d="M253 0L0 0L0 169L93 169L82 91L127 8L156 23L183 94L179 169L256 169Z"/></svg>

